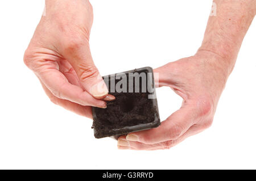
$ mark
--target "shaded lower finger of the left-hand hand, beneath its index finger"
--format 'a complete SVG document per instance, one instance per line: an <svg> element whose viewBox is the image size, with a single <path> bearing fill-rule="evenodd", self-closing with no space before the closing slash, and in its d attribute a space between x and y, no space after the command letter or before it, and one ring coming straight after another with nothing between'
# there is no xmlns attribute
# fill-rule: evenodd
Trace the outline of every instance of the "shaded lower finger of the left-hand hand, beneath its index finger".
<svg viewBox="0 0 256 181"><path fill-rule="evenodd" d="M42 83L42 81L40 82ZM56 96L54 96L43 83L42 86L51 102L65 108L68 111L75 112L80 116L85 116L92 119L92 108L90 106L82 106L80 104L70 102L69 100L59 99Z"/></svg>

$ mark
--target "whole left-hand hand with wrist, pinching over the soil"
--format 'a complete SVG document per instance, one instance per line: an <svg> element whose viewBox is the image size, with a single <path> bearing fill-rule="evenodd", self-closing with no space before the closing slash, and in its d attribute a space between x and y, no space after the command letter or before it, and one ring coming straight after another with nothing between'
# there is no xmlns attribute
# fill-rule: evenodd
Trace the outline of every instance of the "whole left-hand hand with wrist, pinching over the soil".
<svg viewBox="0 0 256 181"><path fill-rule="evenodd" d="M24 54L51 101L86 117L92 117L90 106L105 108L104 100L114 99L90 53L92 23L88 0L46 0L46 14Z"/></svg>

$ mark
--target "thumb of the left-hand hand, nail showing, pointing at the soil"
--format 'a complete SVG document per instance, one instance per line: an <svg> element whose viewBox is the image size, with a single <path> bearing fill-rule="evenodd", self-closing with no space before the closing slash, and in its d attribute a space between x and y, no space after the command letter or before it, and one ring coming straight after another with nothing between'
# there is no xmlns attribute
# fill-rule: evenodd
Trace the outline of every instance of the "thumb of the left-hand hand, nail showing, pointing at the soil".
<svg viewBox="0 0 256 181"><path fill-rule="evenodd" d="M89 44L72 45L66 52L68 61L75 69L82 87L97 99L105 98L109 92L108 87L94 65Z"/></svg>

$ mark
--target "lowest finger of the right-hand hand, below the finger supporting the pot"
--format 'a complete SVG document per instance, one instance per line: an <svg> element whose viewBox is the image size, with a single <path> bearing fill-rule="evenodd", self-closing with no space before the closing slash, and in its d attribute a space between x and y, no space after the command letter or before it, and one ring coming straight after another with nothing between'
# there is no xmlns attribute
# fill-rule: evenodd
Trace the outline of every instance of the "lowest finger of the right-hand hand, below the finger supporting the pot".
<svg viewBox="0 0 256 181"><path fill-rule="evenodd" d="M193 136L197 133L202 132L204 129L201 129L198 125L193 125L188 129L183 135L181 135L176 140L168 140L164 142L159 142L157 144L144 144L138 141L128 141L125 136L121 136L118 138L118 149L122 150L164 150L170 149L173 146L179 144L184 141L186 138Z"/></svg>

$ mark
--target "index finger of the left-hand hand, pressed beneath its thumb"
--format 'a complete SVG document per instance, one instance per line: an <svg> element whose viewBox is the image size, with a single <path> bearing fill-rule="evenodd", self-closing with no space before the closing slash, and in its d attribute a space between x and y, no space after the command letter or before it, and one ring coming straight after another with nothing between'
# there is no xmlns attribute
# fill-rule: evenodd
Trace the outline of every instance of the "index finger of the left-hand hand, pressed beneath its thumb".
<svg viewBox="0 0 256 181"><path fill-rule="evenodd" d="M106 108L106 102L93 98L81 87L69 83L67 78L57 69L44 67L42 71L37 71L36 75L47 89L59 99L69 100L82 106Z"/></svg>

